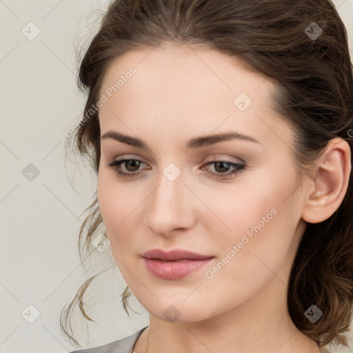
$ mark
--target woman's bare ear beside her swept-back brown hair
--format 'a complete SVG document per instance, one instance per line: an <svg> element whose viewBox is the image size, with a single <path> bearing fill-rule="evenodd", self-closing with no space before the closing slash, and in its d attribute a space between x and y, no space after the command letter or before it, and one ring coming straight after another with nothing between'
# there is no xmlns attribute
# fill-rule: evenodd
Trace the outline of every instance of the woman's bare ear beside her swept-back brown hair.
<svg viewBox="0 0 353 353"><path fill-rule="evenodd" d="M351 171L350 145L343 139L331 139L316 160L316 174L308 181L302 218L308 223L319 223L330 218L339 208Z"/></svg>

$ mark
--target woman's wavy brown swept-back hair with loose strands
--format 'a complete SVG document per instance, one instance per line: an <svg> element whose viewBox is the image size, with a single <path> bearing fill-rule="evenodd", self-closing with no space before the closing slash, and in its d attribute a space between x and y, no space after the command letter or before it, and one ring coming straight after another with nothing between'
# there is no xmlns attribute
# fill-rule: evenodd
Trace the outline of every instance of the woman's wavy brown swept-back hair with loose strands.
<svg viewBox="0 0 353 353"><path fill-rule="evenodd" d="M313 22L323 31L317 38L310 37ZM330 0L117 0L109 4L85 50L77 80L88 97L85 119L71 137L74 150L89 158L97 174L100 128L98 110L92 107L105 72L125 52L160 43L205 44L274 80L274 109L294 128L294 157L303 171L334 137L345 139L353 150L352 63L345 26ZM292 321L323 344L347 346L344 333L353 303L352 183L350 177L345 198L329 219L307 224L290 274ZM90 240L102 223L97 196L87 210L79 234L80 256L84 246L92 250ZM71 311L79 303L81 313L92 320L85 313L83 294L93 278L61 312L61 330L75 345ZM122 294L128 314L130 294L128 287ZM304 314L312 304L323 311L316 323Z"/></svg>

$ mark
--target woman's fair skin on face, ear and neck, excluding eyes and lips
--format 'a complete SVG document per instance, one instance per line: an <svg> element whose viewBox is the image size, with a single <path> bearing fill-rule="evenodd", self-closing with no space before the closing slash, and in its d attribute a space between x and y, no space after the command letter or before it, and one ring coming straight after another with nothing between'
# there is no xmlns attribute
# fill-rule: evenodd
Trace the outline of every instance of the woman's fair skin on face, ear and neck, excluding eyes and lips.
<svg viewBox="0 0 353 353"><path fill-rule="evenodd" d="M290 319L288 279L305 221L323 221L341 204L349 145L332 140L313 170L316 177L303 178L299 187L293 131L270 106L270 79L214 50L170 44L113 61L101 93L131 66L137 73L99 110L101 135L128 134L150 150L102 139L98 198L114 261L150 313L134 351L146 352L148 345L148 352L170 353L319 352ZM252 99L244 112L233 103L240 92ZM232 139L185 148L189 139L230 130L259 143ZM107 165L125 158L143 163L129 170L122 163L121 170L142 174L123 179ZM210 161L245 161L247 168L219 179L222 170L206 165ZM163 175L170 163L181 171L175 181ZM276 215L208 279L205 271L273 208ZM141 258L152 248L187 249L214 259L183 279L159 279ZM180 312L176 321L163 314L170 305Z"/></svg>

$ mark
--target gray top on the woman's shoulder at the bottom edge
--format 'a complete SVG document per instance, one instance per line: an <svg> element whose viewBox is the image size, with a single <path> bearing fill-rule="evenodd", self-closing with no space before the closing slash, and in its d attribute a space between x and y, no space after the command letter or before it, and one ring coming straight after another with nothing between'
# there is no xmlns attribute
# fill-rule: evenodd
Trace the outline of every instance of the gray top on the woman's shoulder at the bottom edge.
<svg viewBox="0 0 353 353"><path fill-rule="evenodd" d="M135 332L131 336L127 336L124 339L113 341L105 345L99 345L99 347L86 348L85 350L75 350L70 353L132 353L137 339L145 330L145 326L141 330Z"/></svg>

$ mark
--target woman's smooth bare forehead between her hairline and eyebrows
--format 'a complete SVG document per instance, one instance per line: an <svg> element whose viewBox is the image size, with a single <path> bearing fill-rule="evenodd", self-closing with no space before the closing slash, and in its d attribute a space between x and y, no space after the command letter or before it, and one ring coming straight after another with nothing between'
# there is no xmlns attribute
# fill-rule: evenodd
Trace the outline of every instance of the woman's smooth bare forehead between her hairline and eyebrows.
<svg viewBox="0 0 353 353"><path fill-rule="evenodd" d="M131 68L134 74L127 74ZM101 130L121 127L128 132L125 123L134 132L141 132L143 125L144 134L155 128L166 134L186 129L211 133L217 126L269 134L265 130L273 124L283 125L270 104L275 88L240 60L209 48L132 50L112 61L105 72L101 94L108 101L99 110ZM240 109L244 105L245 110Z"/></svg>

